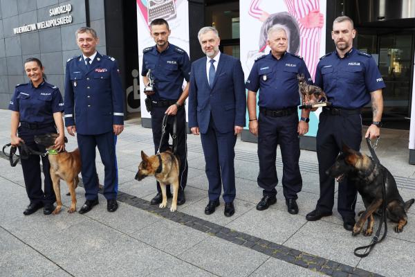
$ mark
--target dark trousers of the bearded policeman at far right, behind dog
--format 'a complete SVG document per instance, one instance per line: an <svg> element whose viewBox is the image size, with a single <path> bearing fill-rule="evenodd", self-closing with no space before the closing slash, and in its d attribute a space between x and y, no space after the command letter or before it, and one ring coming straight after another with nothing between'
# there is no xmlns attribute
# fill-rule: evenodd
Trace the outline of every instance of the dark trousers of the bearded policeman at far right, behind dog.
<svg viewBox="0 0 415 277"><path fill-rule="evenodd" d="M320 174L320 199L316 208L331 212L334 205L334 179L326 175L335 158L342 151L342 143L353 150L360 150L362 141L362 118L360 114L331 115L329 111L320 114L317 131L317 159ZM357 190L347 179L339 184L338 211L342 217L354 217Z"/></svg>

